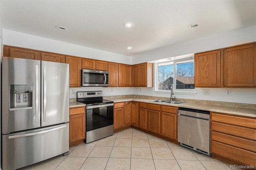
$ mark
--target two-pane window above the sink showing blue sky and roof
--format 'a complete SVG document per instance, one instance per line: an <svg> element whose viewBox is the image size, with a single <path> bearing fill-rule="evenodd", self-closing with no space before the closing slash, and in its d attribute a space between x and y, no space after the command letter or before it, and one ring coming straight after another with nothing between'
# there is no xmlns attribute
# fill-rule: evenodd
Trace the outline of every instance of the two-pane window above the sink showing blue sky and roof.
<svg viewBox="0 0 256 170"><path fill-rule="evenodd" d="M194 89L194 59L158 63L157 91Z"/></svg>

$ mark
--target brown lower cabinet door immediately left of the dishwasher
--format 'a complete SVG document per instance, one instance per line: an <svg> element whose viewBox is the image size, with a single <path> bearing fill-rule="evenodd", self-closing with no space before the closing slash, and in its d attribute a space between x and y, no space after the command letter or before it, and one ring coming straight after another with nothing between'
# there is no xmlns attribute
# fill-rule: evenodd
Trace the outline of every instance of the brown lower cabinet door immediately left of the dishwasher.
<svg viewBox="0 0 256 170"><path fill-rule="evenodd" d="M162 131L161 134L168 138L177 140L177 115L162 112Z"/></svg>

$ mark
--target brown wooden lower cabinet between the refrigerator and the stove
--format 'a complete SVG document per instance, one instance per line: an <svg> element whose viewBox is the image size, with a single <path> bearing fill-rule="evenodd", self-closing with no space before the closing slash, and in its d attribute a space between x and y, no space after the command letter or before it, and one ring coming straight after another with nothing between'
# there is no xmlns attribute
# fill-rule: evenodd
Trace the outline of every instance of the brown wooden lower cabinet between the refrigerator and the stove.
<svg viewBox="0 0 256 170"><path fill-rule="evenodd" d="M70 108L69 115L69 146L75 146L85 139L85 107Z"/></svg>

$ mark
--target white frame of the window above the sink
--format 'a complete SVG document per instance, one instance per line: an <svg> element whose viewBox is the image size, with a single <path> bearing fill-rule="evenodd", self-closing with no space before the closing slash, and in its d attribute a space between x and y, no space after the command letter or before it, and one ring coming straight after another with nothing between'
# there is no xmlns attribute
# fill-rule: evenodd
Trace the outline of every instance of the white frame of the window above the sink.
<svg viewBox="0 0 256 170"><path fill-rule="evenodd" d="M158 67L163 66L163 65L171 65L173 63L173 72L174 72L173 73L173 81L174 81L173 82L173 87L174 87L173 91L174 91L174 94L196 95L196 89L195 88L194 89L176 89L177 64L190 63L190 62L194 62L194 57L156 63L155 93L166 93L166 94L170 93L170 90L159 90L158 89Z"/></svg>

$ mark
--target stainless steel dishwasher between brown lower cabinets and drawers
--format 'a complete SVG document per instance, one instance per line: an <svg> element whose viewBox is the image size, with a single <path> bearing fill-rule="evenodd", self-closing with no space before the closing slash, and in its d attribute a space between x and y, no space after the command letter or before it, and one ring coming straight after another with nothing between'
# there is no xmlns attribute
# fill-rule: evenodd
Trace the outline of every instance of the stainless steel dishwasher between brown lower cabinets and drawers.
<svg viewBox="0 0 256 170"><path fill-rule="evenodd" d="M210 111L179 108L178 142L210 156Z"/></svg>

